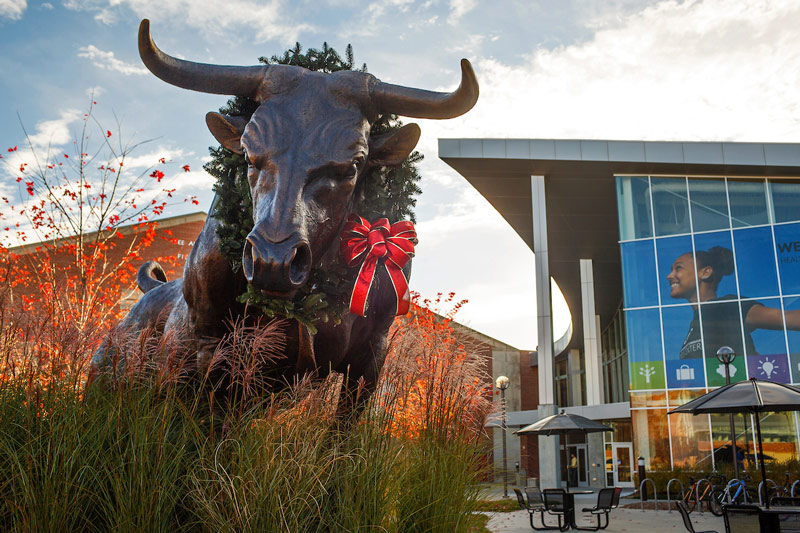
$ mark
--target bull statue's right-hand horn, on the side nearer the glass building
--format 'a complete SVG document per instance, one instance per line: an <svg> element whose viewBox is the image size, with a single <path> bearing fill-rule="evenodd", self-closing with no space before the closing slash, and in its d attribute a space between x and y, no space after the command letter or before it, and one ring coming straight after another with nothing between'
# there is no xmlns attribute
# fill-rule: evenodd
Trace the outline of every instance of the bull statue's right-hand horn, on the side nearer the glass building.
<svg viewBox="0 0 800 533"><path fill-rule="evenodd" d="M478 80L468 60L461 60L461 85L452 93L412 89L378 82L372 101L379 111L412 118L455 118L478 101Z"/></svg>

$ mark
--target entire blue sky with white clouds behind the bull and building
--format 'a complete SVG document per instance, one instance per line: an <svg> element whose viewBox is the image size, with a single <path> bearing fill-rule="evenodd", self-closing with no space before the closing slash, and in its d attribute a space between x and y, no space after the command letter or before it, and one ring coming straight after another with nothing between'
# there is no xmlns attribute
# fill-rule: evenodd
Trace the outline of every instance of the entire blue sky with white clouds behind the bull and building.
<svg viewBox="0 0 800 533"><path fill-rule="evenodd" d="M165 179L207 208L213 179L202 164L217 143L204 117L226 98L150 74L136 48L142 18L162 50L205 63L349 43L382 81L450 91L468 58L475 108L414 120L425 159L411 288L455 292L469 300L459 322L519 349L537 346L533 254L438 159L438 138L800 141L796 0L0 0L6 161L13 146L14 157L30 155L23 126L34 148L67 150L94 99L104 128L149 141L136 164L166 158ZM15 178L0 166L0 191ZM166 215L196 209L184 202ZM558 336L569 314L554 305Z"/></svg>

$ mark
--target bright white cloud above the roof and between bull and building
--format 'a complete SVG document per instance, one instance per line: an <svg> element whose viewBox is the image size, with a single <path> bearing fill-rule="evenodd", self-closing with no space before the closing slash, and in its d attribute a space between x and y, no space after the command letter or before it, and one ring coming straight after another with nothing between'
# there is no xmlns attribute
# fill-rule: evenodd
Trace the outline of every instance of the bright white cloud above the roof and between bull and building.
<svg viewBox="0 0 800 533"><path fill-rule="evenodd" d="M599 29L579 44L532 49L522 64L476 61L481 84L476 107L453 120L420 121L419 149L427 155L424 179L446 187L459 202L468 200L462 191L469 185L449 167L434 163L441 137L800 138L797 2L665 1L632 14L605 16L602 24L592 20ZM454 79L452 86L439 90L452 90L456 84ZM432 182L423 185L421 208L434 203ZM447 205L432 221L428 217L421 222L414 261L417 272L425 274L413 279L412 286L427 296L456 290L470 299L459 320L519 348L533 348L535 320L529 314L514 319L533 306L532 289L508 282L533 282L525 259L530 252L492 211L488 203ZM483 232L484 225L491 231ZM476 243L479 255L489 254L494 264L476 264ZM455 280L457 276L463 277ZM565 318L562 305L554 316L558 330Z"/></svg>

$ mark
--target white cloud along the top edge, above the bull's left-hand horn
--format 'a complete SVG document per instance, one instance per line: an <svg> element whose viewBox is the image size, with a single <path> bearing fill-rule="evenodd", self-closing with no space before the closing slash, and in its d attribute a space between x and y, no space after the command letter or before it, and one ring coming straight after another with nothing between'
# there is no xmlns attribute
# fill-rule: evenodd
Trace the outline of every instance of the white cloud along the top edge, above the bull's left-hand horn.
<svg viewBox="0 0 800 533"><path fill-rule="evenodd" d="M154 32L168 31L168 21L180 20L206 34L223 36L233 31L238 35L243 28L250 28L261 41L294 44L300 32L313 27L287 20L284 5L284 0L69 0L65 4L70 9L95 12L95 19L105 23L116 21L125 7L140 18L153 18Z"/></svg>

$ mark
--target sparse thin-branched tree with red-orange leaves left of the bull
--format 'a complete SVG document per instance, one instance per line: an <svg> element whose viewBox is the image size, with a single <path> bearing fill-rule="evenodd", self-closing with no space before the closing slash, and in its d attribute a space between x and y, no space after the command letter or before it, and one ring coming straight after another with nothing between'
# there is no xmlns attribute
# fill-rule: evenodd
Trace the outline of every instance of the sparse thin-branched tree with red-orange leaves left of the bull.
<svg viewBox="0 0 800 533"><path fill-rule="evenodd" d="M153 243L153 219L175 193L163 181L164 158L158 167L129 169L143 143L105 129L95 106L92 100L70 153L42 153L23 126L27 153L14 146L0 156L17 184L0 211L0 321L46 324L54 335L80 339L83 354L121 317L120 301L134 286L133 262Z"/></svg>

